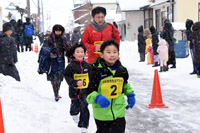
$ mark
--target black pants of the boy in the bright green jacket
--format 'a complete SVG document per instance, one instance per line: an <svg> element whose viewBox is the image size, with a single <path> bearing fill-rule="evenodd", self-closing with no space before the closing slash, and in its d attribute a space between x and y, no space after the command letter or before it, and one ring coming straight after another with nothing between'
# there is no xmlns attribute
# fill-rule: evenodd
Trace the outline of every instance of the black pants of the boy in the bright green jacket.
<svg viewBox="0 0 200 133"><path fill-rule="evenodd" d="M113 121L99 121L95 119L97 125L96 133L125 133L126 120L118 118Z"/></svg>

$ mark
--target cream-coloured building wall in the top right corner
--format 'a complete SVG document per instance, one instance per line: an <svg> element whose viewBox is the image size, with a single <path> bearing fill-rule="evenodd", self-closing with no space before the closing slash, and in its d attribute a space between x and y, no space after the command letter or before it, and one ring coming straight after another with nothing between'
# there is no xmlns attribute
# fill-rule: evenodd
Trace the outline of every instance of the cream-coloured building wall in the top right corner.
<svg viewBox="0 0 200 133"><path fill-rule="evenodd" d="M175 21L184 22L186 19L198 21L198 5L200 0L176 0L175 4Z"/></svg>

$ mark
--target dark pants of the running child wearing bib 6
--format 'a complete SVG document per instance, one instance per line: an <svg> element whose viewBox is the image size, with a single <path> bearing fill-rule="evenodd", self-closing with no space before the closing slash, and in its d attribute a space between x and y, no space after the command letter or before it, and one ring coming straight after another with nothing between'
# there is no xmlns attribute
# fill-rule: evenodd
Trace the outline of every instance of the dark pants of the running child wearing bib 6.
<svg viewBox="0 0 200 133"><path fill-rule="evenodd" d="M86 97L81 99L71 100L70 115L78 115L79 113L80 116L79 116L78 127L88 128L90 112L88 109L88 103L86 101Z"/></svg>

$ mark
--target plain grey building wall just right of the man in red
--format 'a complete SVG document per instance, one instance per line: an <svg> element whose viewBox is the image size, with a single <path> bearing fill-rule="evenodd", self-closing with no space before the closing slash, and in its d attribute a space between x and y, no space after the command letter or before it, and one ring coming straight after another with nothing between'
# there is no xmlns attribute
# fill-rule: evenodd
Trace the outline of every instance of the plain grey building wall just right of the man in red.
<svg viewBox="0 0 200 133"><path fill-rule="evenodd" d="M126 12L126 36L125 40L137 40L138 27L144 25L144 12L143 11L130 11Z"/></svg>

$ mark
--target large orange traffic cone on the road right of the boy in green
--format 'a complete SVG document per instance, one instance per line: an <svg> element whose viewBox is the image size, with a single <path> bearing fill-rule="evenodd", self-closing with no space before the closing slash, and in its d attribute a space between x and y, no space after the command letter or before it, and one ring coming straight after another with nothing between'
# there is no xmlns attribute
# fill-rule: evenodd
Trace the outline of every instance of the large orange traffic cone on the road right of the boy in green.
<svg viewBox="0 0 200 133"><path fill-rule="evenodd" d="M168 108L168 106L163 104L163 101L162 101L160 81L159 81L157 69L155 69L155 73L154 73L151 103L149 105L147 105L147 108Z"/></svg>

